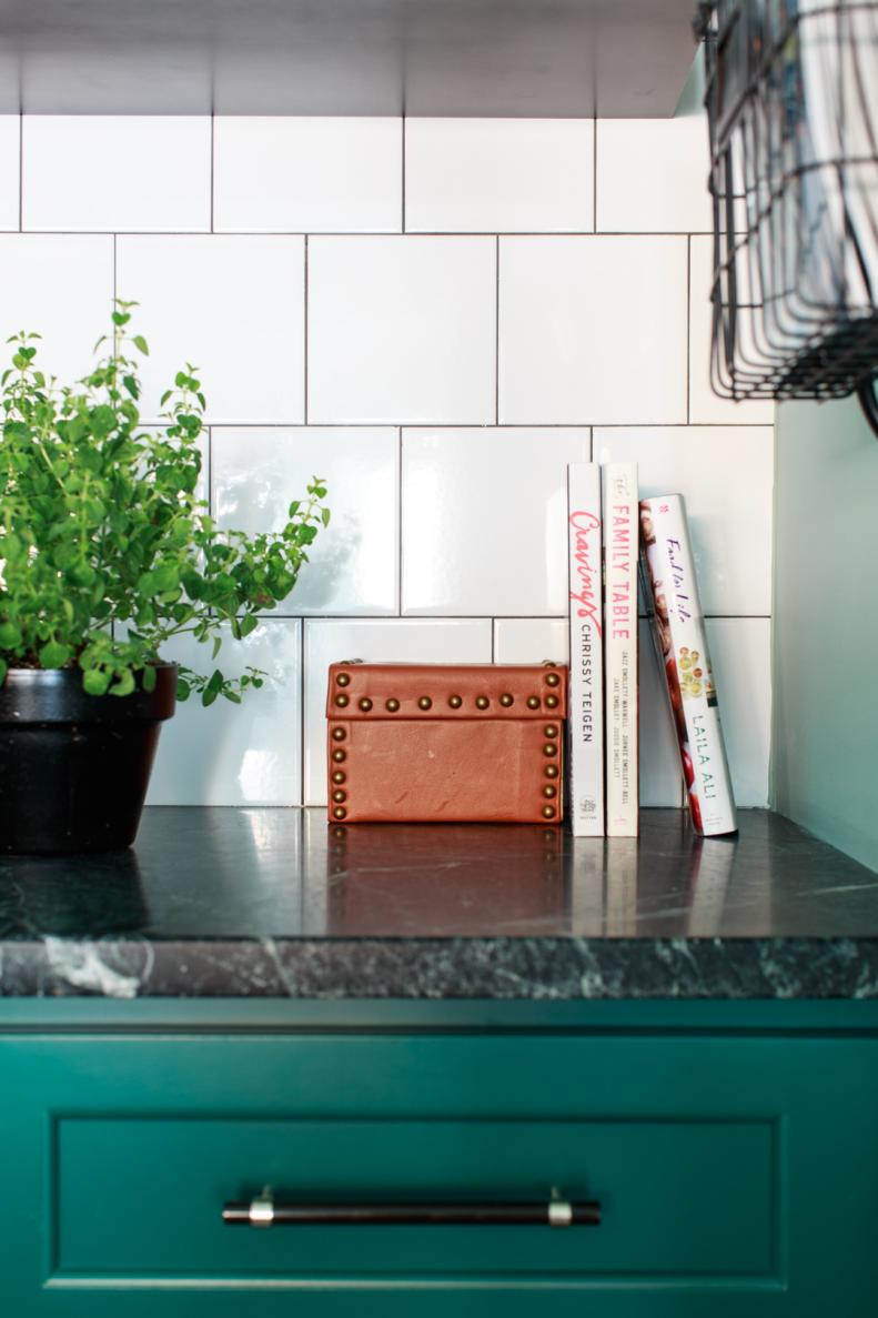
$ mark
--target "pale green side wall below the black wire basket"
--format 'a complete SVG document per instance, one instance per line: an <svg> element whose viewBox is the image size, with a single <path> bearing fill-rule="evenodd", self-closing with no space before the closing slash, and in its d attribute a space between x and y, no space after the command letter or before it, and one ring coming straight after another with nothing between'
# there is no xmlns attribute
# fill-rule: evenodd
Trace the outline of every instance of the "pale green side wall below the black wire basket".
<svg viewBox="0 0 878 1318"><path fill-rule="evenodd" d="M860 405L776 413L774 805L878 870L878 439Z"/></svg>

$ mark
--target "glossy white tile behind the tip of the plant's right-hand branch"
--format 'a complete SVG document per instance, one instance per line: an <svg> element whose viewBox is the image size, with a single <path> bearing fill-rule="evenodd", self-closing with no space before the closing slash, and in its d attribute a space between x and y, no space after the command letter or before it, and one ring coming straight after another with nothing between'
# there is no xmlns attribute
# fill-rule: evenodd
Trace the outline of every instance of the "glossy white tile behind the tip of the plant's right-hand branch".
<svg viewBox="0 0 878 1318"><path fill-rule="evenodd" d="M212 431L214 515L241 531L278 531L293 500L326 478L328 527L308 550L282 613L397 613L399 434L395 430Z"/></svg>

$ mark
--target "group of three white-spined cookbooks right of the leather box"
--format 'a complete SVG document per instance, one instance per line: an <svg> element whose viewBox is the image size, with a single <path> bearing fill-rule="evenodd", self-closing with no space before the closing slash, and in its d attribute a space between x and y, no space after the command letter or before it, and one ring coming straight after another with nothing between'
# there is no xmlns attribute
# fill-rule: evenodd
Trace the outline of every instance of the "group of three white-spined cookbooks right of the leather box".
<svg viewBox="0 0 878 1318"><path fill-rule="evenodd" d="M570 801L580 837L637 837L639 808L637 569L667 691L692 822L737 828L680 494L638 500L635 463L572 463Z"/></svg>

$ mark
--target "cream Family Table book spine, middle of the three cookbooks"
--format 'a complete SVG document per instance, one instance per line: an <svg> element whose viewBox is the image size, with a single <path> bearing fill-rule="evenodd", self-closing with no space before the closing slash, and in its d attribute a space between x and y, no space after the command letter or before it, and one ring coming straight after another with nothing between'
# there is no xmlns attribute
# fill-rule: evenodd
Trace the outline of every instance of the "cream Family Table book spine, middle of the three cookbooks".
<svg viewBox="0 0 878 1318"><path fill-rule="evenodd" d="M608 463L602 486L606 836L637 837L637 463Z"/></svg>

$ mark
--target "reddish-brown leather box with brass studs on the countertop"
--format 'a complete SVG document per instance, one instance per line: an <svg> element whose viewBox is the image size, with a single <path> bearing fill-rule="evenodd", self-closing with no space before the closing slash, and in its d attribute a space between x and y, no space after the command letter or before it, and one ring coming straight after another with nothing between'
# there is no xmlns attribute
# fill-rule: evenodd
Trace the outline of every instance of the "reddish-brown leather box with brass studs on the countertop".
<svg viewBox="0 0 878 1318"><path fill-rule="evenodd" d="M559 824L567 670L330 668L331 822Z"/></svg>

